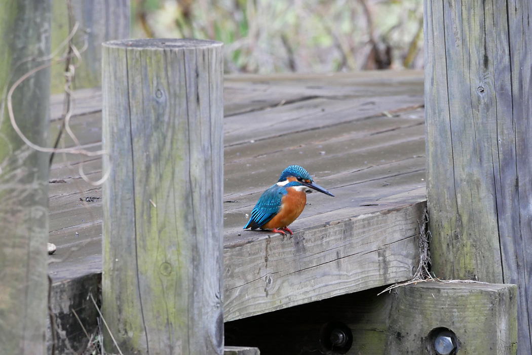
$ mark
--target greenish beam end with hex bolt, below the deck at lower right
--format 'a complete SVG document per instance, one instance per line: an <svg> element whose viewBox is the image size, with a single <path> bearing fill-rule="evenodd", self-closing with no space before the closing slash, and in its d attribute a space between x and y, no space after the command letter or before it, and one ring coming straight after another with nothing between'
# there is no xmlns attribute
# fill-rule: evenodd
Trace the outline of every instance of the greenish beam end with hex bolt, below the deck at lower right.
<svg viewBox="0 0 532 355"><path fill-rule="evenodd" d="M444 328L458 353L517 353L515 285L422 282L393 293L388 354L423 353Z"/></svg>

